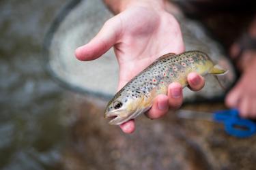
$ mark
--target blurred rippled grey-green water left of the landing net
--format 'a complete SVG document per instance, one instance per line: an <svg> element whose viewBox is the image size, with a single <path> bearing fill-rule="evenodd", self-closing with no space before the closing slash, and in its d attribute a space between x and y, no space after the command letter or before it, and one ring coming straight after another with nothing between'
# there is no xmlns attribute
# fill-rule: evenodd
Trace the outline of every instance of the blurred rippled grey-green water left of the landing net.
<svg viewBox="0 0 256 170"><path fill-rule="evenodd" d="M63 3L0 2L0 169L59 167L67 126L63 90L44 73L40 55Z"/></svg>

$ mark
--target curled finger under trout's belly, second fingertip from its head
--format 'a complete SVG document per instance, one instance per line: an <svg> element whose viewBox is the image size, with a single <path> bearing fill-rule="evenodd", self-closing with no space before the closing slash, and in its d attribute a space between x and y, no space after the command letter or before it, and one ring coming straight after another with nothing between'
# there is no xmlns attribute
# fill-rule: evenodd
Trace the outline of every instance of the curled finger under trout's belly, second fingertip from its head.
<svg viewBox="0 0 256 170"><path fill-rule="evenodd" d="M148 118L156 119L167 114L169 110L169 99L167 95L158 95L154 99L152 108L145 114Z"/></svg>

